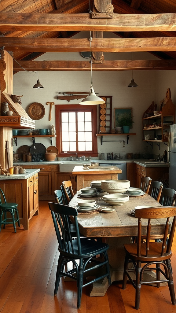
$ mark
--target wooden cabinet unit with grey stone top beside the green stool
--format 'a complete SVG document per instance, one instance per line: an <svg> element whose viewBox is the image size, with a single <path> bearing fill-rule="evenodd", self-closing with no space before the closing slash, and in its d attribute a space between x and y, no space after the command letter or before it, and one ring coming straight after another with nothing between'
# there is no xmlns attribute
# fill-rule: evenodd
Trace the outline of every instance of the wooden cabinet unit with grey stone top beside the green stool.
<svg viewBox="0 0 176 313"><path fill-rule="evenodd" d="M24 174L0 175L0 188L7 202L18 204L20 224L24 230L29 220L39 214L38 172L40 169L27 169Z"/></svg>

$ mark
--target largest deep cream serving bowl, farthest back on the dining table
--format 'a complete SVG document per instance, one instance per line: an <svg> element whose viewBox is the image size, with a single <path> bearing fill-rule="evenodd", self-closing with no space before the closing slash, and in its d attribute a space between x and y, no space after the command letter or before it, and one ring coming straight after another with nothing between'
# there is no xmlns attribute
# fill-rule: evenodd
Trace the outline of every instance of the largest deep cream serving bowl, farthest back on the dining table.
<svg viewBox="0 0 176 313"><path fill-rule="evenodd" d="M101 188L108 193L122 193L130 187L129 180L103 180Z"/></svg>

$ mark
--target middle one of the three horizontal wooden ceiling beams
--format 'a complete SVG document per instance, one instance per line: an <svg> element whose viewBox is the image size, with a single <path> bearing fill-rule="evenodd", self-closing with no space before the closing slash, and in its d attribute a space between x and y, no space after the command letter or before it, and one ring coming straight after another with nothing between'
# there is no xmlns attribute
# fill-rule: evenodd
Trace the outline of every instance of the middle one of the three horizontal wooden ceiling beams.
<svg viewBox="0 0 176 313"><path fill-rule="evenodd" d="M10 51L82 52L90 50L90 41L89 38L0 37L0 46ZM93 38L91 48L95 52L176 51L176 37Z"/></svg>

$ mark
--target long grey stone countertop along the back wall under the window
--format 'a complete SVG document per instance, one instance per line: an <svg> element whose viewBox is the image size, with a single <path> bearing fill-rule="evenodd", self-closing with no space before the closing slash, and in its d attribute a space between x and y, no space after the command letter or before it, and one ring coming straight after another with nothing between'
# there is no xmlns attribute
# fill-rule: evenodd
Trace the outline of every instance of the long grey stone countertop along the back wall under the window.
<svg viewBox="0 0 176 313"><path fill-rule="evenodd" d="M23 161L19 161L19 162L13 162L13 165L21 165L23 167L23 165L58 165L61 164L62 162L64 162L66 160L61 160L61 161L40 161L40 162L23 162ZM70 161L73 162L74 161ZM88 162L88 161L83 161L83 162ZM145 163L145 162L150 162L148 161L148 159L120 159L120 160L90 160L89 162L92 163L102 163L102 164L118 164L118 163L136 163L138 165L144 166L144 167L168 167L168 163L162 163L162 162L157 162L157 163ZM23 175L23 174L19 174L19 175ZM2 175L1 175L2 176Z"/></svg>

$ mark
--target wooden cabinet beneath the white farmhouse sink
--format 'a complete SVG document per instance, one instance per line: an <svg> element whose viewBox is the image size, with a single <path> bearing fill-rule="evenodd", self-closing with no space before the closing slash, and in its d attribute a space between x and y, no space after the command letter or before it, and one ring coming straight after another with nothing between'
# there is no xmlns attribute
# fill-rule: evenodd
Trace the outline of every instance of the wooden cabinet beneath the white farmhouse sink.
<svg viewBox="0 0 176 313"><path fill-rule="evenodd" d="M74 194L77 191L77 183L76 176L72 174L72 172L59 172L59 165L52 166L52 194L54 194L54 190L60 189L62 182L65 180L70 180L72 183L72 188Z"/></svg>

